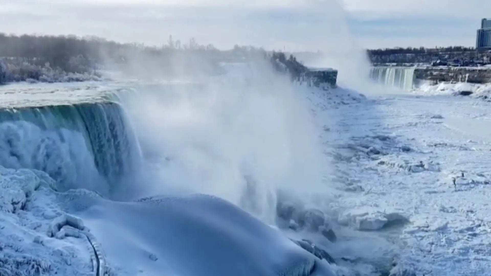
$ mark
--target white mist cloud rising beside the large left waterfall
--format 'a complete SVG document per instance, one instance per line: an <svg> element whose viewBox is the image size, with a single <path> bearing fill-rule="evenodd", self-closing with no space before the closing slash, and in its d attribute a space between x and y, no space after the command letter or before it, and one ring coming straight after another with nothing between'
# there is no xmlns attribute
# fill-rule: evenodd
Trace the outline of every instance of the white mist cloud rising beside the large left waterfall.
<svg viewBox="0 0 491 276"><path fill-rule="evenodd" d="M303 91L269 67L231 66L215 83L137 87L137 99L126 94L142 152L161 179L147 192L211 193L273 222L277 190L326 190L319 131Z"/></svg>

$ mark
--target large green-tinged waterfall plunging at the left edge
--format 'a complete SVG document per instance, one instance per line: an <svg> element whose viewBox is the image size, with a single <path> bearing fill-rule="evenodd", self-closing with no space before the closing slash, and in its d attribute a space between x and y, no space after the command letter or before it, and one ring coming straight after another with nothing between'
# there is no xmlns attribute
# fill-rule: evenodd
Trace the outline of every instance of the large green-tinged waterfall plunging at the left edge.
<svg viewBox="0 0 491 276"><path fill-rule="evenodd" d="M112 102L0 110L0 165L45 171L59 190L109 193L138 166L132 134Z"/></svg>

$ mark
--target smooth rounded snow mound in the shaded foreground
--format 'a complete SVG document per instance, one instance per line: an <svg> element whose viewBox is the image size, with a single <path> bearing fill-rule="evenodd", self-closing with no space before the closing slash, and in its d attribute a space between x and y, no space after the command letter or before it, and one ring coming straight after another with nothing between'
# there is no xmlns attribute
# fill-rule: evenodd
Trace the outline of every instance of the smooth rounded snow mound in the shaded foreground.
<svg viewBox="0 0 491 276"><path fill-rule="evenodd" d="M100 199L75 215L97 237L108 263L132 268L122 275L333 275L326 261L214 196Z"/></svg>

